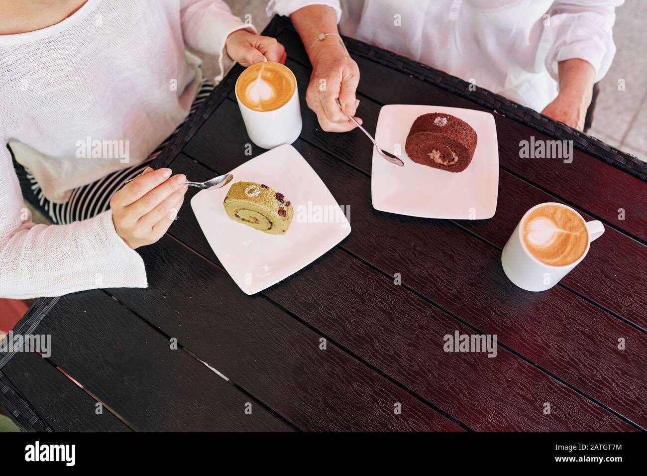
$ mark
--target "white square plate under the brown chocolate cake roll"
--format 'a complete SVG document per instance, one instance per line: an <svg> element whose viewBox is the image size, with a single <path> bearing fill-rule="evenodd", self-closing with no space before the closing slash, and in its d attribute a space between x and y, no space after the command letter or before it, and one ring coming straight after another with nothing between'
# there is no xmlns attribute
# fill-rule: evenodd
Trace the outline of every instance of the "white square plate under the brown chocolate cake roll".
<svg viewBox="0 0 647 476"><path fill-rule="evenodd" d="M406 155L404 144L411 124L418 116L433 112L463 119L476 131L474 158L463 172L417 164ZM404 167L388 163L373 149L371 198L376 210L458 220L494 216L499 189L499 146L492 114L472 109L389 104L380 109L375 141L387 152L395 153L399 146L404 162Z"/></svg>

